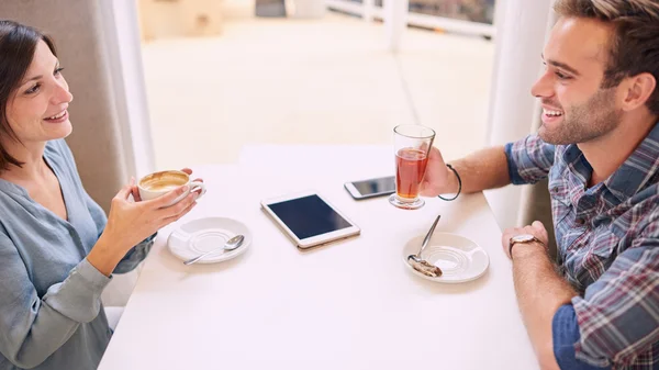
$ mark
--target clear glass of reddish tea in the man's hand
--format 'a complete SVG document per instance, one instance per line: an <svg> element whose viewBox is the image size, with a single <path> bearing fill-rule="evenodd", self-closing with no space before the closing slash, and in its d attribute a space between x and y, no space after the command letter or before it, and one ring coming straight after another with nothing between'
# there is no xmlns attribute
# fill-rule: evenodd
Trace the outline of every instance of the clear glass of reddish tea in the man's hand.
<svg viewBox="0 0 659 370"><path fill-rule="evenodd" d="M422 125L400 125L393 128L395 154L395 194L389 202L400 209L417 210L425 204L418 198L435 131Z"/></svg>

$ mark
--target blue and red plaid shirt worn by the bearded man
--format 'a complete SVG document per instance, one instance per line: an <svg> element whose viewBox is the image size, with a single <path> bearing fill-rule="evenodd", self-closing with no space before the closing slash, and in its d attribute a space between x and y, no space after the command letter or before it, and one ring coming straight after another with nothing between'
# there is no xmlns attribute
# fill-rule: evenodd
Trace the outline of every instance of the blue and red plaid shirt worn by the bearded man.
<svg viewBox="0 0 659 370"><path fill-rule="evenodd" d="M581 338L578 359L614 369L659 369L659 124L604 182L577 145L536 135L506 146L513 183L549 177L560 273Z"/></svg>

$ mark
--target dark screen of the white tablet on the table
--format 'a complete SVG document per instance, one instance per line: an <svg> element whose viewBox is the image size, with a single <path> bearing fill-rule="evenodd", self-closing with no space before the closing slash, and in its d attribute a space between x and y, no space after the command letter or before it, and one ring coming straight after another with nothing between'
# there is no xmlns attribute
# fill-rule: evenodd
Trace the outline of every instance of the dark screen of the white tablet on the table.
<svg viewBox="0 0 659 370"><path fill-rule="evenodd" d="M268 206L299 239L353 226L315 194Z"/></svg>

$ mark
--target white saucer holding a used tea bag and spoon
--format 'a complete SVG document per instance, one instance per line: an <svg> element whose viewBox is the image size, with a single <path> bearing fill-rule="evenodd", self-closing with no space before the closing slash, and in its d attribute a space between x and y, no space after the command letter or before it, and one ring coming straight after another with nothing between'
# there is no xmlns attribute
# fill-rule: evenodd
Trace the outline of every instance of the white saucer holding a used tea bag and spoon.
<svg viewBox="0 0 659 370"><path fill-rule="evenodd" d="M403 264L416 276L444 283L458 283L480 278L490 266L490 257L473 240L449 233L435 233L423 250L422 258L442 269L438 278L427 277L407 264L407 256L416 255L425 235L412 238L403 248Z"/></svg>

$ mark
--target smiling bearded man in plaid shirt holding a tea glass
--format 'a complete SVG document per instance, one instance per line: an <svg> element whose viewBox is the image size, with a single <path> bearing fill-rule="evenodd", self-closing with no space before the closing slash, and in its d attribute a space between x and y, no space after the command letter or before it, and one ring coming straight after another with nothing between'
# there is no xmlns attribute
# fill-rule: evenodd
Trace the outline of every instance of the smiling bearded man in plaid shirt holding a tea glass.
<svg viewBox="0 0 659 370"><path fill-rule="evenodd" d="M445 166L425 195L549 178L545 226L510 228L520 310L543 369L659 369L659 0L558 0L532 89L543 125Z"/></svg>

